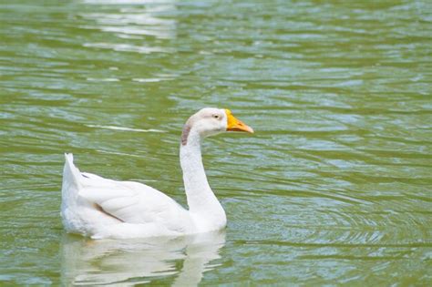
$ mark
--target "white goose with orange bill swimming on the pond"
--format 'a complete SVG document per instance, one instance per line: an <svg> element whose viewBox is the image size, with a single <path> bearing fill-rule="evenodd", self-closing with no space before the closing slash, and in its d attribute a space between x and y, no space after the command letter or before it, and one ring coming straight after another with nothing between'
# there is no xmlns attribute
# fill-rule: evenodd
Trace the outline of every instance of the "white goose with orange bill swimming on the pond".
<svg viewBox="0 0 432 287"><path fill-rule="evenodd" d="M93 239L180 236L223 229L225 210L207 181L201 141L225 131L253 133L223 108L202 108L183 127L180 166L189 210L148 185L80 172L73 155L65 154L61 204L65 229Z"/></svg>

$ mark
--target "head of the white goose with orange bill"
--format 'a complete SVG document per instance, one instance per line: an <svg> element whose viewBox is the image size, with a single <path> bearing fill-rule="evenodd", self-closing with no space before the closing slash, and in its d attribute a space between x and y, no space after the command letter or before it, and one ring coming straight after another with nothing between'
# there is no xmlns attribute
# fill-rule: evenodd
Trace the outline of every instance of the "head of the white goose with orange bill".
<svg viewBox="0 0 432 287"><path fill-rule="evenodd" d="M207 138L226 131L243 131L253 133L253 129L235 118L227 108L202 108L191 116L183 127L181 144L188 142L190 133Z"/></svg>

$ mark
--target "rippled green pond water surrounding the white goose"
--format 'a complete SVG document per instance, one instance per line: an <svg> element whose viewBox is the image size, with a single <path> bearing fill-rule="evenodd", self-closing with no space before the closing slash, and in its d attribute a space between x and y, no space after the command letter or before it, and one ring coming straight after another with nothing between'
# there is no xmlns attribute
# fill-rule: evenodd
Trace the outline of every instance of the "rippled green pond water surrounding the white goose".
<svg viewBox="0 0 432 287"><path fill-rule="evenodd" d="M0 2L0 285L432 284L430 1ZM66 234L63 153L185 204L184 121L221 234ZM122 129L118 129L122 128Z"/></svg>

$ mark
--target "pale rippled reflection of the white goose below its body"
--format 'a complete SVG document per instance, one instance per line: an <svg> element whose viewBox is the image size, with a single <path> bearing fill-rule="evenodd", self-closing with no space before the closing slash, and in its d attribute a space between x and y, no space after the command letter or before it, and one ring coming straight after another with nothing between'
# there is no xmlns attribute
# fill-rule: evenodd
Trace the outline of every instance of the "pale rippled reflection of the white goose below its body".
<svg viewBox="0 0 432 287"><path fill-rule="evenodd" d="M225 232L178 238L93 241L65 234L61 242L62 285L133 286L152 277L173 278L174 286L197 285L216 268Z"/></svg>

